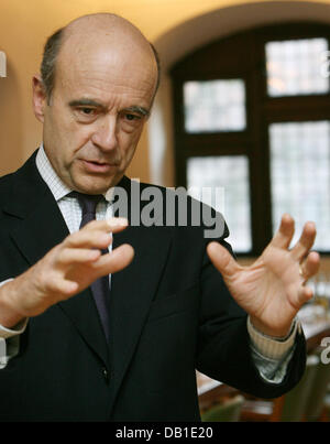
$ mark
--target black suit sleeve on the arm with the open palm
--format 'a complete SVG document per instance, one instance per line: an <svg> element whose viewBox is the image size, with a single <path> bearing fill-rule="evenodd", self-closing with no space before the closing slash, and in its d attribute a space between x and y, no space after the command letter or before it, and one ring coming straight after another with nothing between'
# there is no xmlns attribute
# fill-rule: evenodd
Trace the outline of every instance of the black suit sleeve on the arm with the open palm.
<svg viewBox="0 0 330 444"><path fill-rule="evenodd" d="M232 253L224 236L219 241ZM282 382L271 383L261 376L253 359L248 314L235 303L206 252L200 281L198 370L260 398L277 398L290 390L305 369L304 333L299 331L296 334L293 356Z"/></svg>

